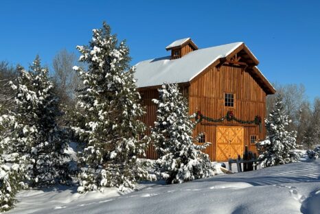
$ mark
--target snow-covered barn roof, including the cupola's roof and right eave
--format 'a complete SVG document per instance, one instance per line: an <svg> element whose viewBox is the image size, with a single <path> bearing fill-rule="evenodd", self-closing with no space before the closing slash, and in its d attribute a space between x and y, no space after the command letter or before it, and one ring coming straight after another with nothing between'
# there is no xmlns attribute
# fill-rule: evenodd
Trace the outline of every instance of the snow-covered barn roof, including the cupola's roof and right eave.
<svg viewBox="0 0 320 214"><path fill-rule="evenodd" d="M185 40L177 40L172 44L176 45L178 42L185 43ZM172 46L172 44L168 47ZM144 88L149 86L159 86L163 84L163 82L190 82L211 64L220 58L226 58L240 46L245 45L240 42L197 49L176 60L170 60L170 56L165 56L163 58L141 61L135 65L135 79L137 79L137 87ZM248 52L252 55L252 58L258 62L255 56L253 56L253 53L251 53L251 51ZM263 77L262 73L258 69L253 70L258 73L258 77ZM275 91L266 78L263 77L262 79L262 82L264 82L268 92L272 93Z"/></svg>

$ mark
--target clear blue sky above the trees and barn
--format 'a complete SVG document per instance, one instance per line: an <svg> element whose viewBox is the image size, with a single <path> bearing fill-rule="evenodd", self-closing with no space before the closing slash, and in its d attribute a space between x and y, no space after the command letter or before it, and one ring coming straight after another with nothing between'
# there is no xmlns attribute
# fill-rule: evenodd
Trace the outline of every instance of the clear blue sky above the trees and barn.
<svg viewBox="0 0 320 214"><path fill-rule="evenodd" d="M320 96L320 1L16 1L0 3L0 60L27 67L63 48L87 45L107 21L130 47L132 64L166 56L191 37L199 48L244 41L271 82L304 84Z"/></svg>

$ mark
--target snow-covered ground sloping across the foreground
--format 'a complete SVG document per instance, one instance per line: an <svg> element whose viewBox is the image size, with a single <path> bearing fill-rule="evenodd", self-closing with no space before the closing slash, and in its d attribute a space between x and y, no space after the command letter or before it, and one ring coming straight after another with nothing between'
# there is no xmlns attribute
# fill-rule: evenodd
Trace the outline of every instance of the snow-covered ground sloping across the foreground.
<svg viewBox="0 0 320 214"><path fill-rule="evenodd" d="M320 160L139 189L23 191L9 213L320 213Z"/></svg>

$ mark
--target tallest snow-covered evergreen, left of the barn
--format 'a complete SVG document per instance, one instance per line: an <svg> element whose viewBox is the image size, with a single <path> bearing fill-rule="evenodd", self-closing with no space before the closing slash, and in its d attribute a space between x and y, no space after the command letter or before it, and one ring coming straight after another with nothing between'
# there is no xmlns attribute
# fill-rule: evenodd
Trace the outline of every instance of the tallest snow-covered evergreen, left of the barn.
<svg viewBox="0 0 320 214"><path fill-rule="evenodd" d="M103 23L101 29L93 29L89 46L77 49L80 62L88 65L87 71L73 67L84 84L78 95L80 123L74 127L85 144L78 191L135 188L137 180L150 176L138 159L145 156L148 137L139 139L146 129L139 117L145 112L139 104L134 68L129 67L128 47L118 44Z"/></svg>

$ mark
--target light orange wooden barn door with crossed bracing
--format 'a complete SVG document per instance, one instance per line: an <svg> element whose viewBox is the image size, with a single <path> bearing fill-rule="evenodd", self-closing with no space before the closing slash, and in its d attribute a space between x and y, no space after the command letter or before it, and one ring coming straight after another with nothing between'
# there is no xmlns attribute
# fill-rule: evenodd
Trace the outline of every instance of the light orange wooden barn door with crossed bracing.
<svg viewBox="0 0 320 214"><path fill-rule="evenodd" d="M244 128L240 126L217 126L216 161L227 161L243 154Z"/></svg>

